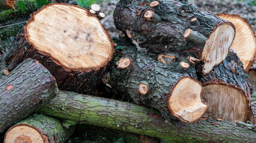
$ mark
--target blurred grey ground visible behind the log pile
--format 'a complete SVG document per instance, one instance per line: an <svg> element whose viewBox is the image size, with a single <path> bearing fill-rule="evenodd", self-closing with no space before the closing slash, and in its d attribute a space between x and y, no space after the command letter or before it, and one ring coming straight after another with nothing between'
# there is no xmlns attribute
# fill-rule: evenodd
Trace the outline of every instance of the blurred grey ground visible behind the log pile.
<svg viewBox="0 0 256 143"><path fill-rule="evenodd" d="M191 4L197 5L206 11L209 11L213 14L218 13L228 13L228 14L236 14L245 18L249 24L251 24L252 29L256 33L256 5L251 6L248 2L239 2L239 1L231 1L231 0L188 0ZM121 33L116 29L115 24L113 22L113 11L115 10L116 0L109 0L108 2L103 2L101 4L101 11L105 13L107 16L101 23L107 29L111 37L118 36Z"/></svg>

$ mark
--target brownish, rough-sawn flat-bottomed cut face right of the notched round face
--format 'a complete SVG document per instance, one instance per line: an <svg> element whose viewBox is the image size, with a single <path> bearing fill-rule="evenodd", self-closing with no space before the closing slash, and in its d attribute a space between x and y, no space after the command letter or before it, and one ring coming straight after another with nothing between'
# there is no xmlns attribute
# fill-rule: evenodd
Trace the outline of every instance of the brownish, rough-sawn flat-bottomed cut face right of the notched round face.
<svg viewBox="0 0 256 143"><path fill-rule="evenodd" d="M203 87L202 97L205 98L209 110L204 117L213 117L228 121L246 122L248 103L245 93L227 85L207 85Z"/></svg>

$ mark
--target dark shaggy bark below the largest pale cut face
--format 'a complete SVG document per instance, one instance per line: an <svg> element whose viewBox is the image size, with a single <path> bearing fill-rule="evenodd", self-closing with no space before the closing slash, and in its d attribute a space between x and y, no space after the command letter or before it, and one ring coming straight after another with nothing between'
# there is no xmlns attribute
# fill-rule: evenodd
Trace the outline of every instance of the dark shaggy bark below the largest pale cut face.
<svg viewBox="0 0 256 143"><path fill-rule="evenodd" d="M106 66L99 70L75 71L62 67L55 59L43 54L26 41L26 33L20 32L11 45L10 51L5 57L9 70L13 70L19 63L27 58L38 60L56 78L58 88L65 91L88 93L95 85L100 83L100 77L106 70Z"/></svg>

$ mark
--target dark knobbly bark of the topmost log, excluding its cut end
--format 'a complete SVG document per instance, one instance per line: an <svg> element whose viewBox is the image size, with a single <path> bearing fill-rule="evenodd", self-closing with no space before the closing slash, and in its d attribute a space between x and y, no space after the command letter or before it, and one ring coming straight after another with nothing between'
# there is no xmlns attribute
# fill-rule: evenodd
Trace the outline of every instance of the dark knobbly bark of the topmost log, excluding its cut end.
<svg viewBox="0 0 256 143"><path fill-rule="evenodd" d="M149 7L150 2L121 0L114 11L116 28L131 33L132 39L139 45L149 48L151 52L167 52L177 50L201 51L202 45L188 42L183 38L186 29L191 29L209 38L210 33L222 23L233 24L222 20L201 8L186 1L159 0L159 5ZM153 11L158 20L146 20L146 11ZM191 19L197 18L200 25L193 26ZM204 45L204 44L203 44Z"/></svg>

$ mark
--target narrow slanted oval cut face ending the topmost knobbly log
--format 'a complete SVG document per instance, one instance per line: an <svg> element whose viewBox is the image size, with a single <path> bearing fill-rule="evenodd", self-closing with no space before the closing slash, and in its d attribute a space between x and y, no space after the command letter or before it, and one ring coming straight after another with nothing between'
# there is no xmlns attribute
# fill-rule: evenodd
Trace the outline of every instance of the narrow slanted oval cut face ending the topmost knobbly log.
<svg viewBox="0 0 256 143"><path fill-rule="evenodd" d="M203 73L209 73L213 67L220 64L226 57L234 39L234 29L230 24L224 23L217 27L206 40L201 61L204 61Z"/></svg>

